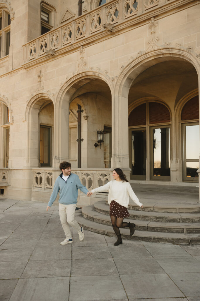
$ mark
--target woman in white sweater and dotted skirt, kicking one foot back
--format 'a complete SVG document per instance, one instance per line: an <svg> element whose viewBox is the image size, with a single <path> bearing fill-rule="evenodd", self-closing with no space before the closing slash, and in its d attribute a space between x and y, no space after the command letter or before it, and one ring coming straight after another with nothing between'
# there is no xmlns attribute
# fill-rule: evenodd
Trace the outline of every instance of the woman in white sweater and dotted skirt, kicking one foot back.
<svg viewBox="0 0 200 301"><path fill-rule="evenodd" d="M129 196L138 206L142 207L142 203L140 203L139 199L136 197L130 183L120 168L115 168L112 176L114 181L110 181L103 186L92 189L87 193L87 195L92 195L94 192L109 192L108 203L110 205L110 219L112 222L112 228L118 237L114 246L118 246L119 244L122 244L119 228L129 227L130 235L133 235L135 231L135 224L123 222L124 217L129 217L127 210Z"/></svg>

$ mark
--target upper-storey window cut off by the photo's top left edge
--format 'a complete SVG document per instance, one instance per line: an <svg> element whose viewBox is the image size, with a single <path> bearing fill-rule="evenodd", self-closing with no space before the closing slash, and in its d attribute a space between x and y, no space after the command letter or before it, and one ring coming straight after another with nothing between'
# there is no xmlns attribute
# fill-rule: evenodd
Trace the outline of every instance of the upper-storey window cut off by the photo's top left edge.
<svg viewBox="0 0 200 301"><path fill-rule="evenodd" d="M0 10L0 50L1 57L10 51L10 13L6 9Z"/></svg>

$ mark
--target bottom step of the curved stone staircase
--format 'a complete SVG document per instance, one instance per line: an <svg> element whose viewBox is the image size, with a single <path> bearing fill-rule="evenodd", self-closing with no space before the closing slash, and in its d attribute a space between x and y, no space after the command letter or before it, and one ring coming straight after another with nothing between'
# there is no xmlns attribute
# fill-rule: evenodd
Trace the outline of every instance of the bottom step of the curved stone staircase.
<svg viewBox="0 0 200 301"><path fill-rule="evenodd" d="M95 233L116 237L115 232L111 226L102 225L97 222L85 219L81 213L76 213L77 222L83 227L83 229L92 231ZM130 236L129 229L120 229L123 239L129 240L142 240L149 242L162 242L172 244L199 244L199 234L183 234L183 233L164 233L153 231L138 231Z"/></svg>

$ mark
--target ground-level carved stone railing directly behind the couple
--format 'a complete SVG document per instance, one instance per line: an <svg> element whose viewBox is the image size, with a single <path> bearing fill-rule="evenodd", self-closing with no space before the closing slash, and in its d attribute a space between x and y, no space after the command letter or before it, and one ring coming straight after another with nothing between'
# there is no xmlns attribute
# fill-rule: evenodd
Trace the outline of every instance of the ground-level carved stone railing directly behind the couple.
<svg viewBox="0 0 200 301"><path fill-rule="evenodd" d="M79 176L82 184L88 190L102 186L110 181L110 171L107 169L73 169L73 173ZM33 188L48 190L52 188L53 170L34 169Z"/></svg>

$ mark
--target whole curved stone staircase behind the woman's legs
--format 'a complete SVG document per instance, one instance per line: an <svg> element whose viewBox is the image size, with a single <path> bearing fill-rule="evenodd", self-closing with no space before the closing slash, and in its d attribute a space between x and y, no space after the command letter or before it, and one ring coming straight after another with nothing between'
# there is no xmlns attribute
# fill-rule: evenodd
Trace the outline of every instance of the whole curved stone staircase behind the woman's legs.
<svg viewBox="0 0 200 301"><path fill-rule="evenodd" d="M135 233L129 235L129 228L121 228L122 238L172 244L200 243L200 205L162 204L140 208L129 205L130 217L124 219L136 224ZM99 234L116 236L112 229L109 205L100 200L82 208L76 213L76 220L86 230Z"/></svg>

